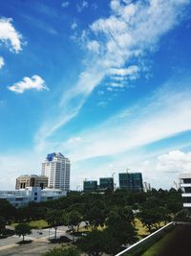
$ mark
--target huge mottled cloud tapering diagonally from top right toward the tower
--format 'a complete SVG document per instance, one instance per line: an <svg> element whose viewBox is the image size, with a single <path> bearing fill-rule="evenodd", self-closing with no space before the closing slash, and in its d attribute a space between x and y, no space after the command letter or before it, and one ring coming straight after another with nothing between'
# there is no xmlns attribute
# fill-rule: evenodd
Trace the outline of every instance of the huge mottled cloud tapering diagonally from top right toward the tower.
<svg viewBox="0 0 191 256"><path fill-rule="evenodd" d="M139 72L147 70L147 67L139 64L140 60L145 58L148 52L157 49L155 46L161 36L180 23L188 3L188 0L151 0L146 4L144 1L122 3L112 0L111 15L96 20L88 31L83 31L79 36L83 45L89 45L94 38L99 45L99 55L92 52L91 57L85 59L87 68L81 73L76 84L64 92L55 119L45 120L42 124L36 134L36 143L39 140L39 144L43 144L43 140L51 136L57 128L74 118L96 86L111 70L126 72L129 80L136 80ZM135 71L129 69L132 60L137 72L130 75ZM122 75L118 75L120 76Z"/></svg>

